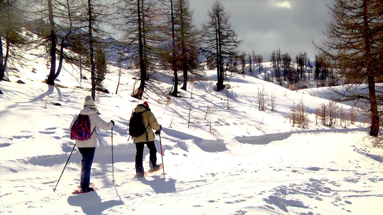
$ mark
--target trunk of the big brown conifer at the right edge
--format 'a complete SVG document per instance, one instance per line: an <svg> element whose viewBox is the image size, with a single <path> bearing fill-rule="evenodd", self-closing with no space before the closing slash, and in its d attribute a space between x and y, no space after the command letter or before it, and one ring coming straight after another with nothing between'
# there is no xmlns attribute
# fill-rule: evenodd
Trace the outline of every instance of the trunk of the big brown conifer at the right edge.
<svg viewBox="0 0 383 215"><path fill-rule="evenodd" d="M378 115L378 105L376 103L376 94L375 94L375 80L371 68L371 47L370 47L370 29L368 27L368 17L367 17L367 0L363 0L363 30L364 30L364 43L365 43L365 57L367 60L367 83L368 83L368 94L370 97L371 105L371 129L370 135L377 137L379 134L379 115Z"/></svg>

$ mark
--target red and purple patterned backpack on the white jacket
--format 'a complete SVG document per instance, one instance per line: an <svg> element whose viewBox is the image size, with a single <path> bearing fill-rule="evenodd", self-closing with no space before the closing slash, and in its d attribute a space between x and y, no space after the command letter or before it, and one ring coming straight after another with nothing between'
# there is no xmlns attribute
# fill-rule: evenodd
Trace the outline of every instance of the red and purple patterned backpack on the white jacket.
<svg viewBox="0 0 383 215"><path fill-rule="evenodd" d="M96 127L93 129L93 131ZM70 129L70 139L72 140L87 140L89 139L93 131L90 132L90 119L88 115L79 114L76 121Z"/></svg>

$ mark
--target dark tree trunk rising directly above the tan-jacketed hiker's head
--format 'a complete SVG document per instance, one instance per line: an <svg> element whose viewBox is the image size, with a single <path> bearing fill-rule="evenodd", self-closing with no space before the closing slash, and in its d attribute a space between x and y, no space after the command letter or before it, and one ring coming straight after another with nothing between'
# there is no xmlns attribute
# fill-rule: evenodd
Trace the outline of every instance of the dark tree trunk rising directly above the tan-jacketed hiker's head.
<svg viewBox="0 0 383 215"><path fill-rule="evenodd" d="M141 11L140 11L140 2L137 0L137 21L138 21L138 54L139 54L139 66L141 72L141 82L140 86L137 89L137 92L133 92L132 96L137 99L142 98L145 89L145 79L146 79L146 66L144 63L144 50L142 44L142 29L141 29Z"/></svg>

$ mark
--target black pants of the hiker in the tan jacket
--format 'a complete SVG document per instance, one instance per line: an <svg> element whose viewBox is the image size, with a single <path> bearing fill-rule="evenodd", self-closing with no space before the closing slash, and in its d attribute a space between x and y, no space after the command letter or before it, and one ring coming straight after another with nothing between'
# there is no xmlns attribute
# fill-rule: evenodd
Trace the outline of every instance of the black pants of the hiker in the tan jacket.
<svg viewBox="0 0 383 215"><path fill-rule="evenodd" d="M155 149L154 141L150 142L139 142L136 143L136 173L144 173L144 167L142 166L142 154L144 153L144 145L149 148L149 167L156 166L157 163L157 150Z"/></svg>

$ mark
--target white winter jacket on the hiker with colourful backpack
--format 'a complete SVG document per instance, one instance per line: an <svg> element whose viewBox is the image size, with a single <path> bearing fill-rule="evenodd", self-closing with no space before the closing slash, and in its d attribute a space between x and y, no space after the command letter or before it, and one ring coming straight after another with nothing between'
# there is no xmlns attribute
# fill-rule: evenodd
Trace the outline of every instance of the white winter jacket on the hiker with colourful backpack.
<svg viewBox="0 0 383 215"><path fill-rule="evenodd" d="M92 136L90 136L89 139L87 140L76 140L76 146L78 148L83 148L83 147L97 147L97 132L98 129L103 129L103 130L109 130L113 127L112 122L105 122L103 121L100 116L98 116L97 112L95 110L92 110L88 107L84 107L82 111L80 111L80 114L82 115L88 115L90 119L90 130L93 131L93 129L96 127L96 129L93 131ZM79 115L75 116L72 123L70 124L69 127L69 134L71 134L71 128L76 121L77 117Z"/></svg>

